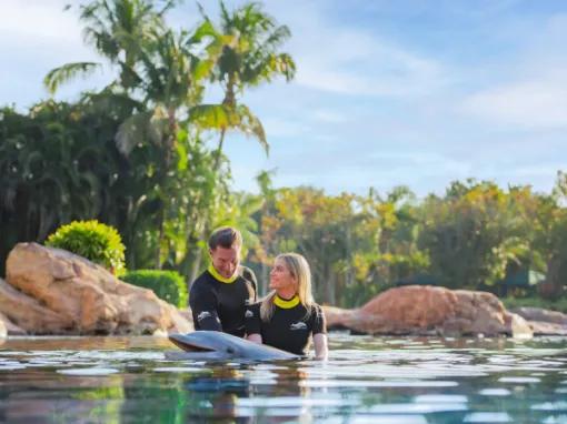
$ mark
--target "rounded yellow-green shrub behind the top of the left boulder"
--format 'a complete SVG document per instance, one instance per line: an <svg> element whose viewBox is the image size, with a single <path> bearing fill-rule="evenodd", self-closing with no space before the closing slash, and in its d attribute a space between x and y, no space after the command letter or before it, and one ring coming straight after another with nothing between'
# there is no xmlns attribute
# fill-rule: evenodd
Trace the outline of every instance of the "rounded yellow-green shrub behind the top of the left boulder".
<svg viewBox="0 0 567 424"><path fill-rule="evenodd" d="M46 244L64 249L105 266L116 275L125 271L125 245L118 231L96 220L73 221L60 226Z"/></svg>

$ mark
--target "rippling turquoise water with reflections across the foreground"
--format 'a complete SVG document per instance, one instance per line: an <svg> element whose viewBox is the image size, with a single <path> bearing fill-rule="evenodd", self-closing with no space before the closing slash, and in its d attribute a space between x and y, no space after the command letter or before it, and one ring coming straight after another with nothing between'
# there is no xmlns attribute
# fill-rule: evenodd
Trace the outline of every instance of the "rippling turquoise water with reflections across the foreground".
<svg viewBox="0 0 567 424"><path fill-rule="evenodd" d="M0 422L567 423L565 337L330 347L327 363L205 363L167 361L159 337L10 339Z"/></svg>

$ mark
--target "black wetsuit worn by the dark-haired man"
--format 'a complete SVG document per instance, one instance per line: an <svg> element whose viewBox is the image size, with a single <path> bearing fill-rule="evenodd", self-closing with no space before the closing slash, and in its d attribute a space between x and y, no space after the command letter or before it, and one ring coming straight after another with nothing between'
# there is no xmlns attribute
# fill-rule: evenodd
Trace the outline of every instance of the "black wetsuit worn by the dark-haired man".
<svg viewBox="0 0 567 424"><path fill-rule="evenodd" d="M205 271L195 280L189 293L189 305L195 330L222 331L242 337L245 335L245 311L256 302L256 276L241 266L239 276L223 283Z"/></svg>

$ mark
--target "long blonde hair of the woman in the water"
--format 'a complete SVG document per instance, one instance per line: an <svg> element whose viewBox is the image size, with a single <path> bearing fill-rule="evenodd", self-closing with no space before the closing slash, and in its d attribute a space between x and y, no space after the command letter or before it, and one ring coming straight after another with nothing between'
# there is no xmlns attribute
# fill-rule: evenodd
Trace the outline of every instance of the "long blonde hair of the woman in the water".
<svg viewBox="0 0 567 424"><path fill-rule="evenodd" d="M307 310L304 316L304 320L307 320L311 314L311 305L315 303L311 293L311 270L309 264L298 253L281 253L276 256L277 260L284 261L289 273L297 280L296 294L299 297L299 302ZM276 297L276 291L268 293L261 301L260 317L265 322L270 321L273 315L273 297Z"/></svg>

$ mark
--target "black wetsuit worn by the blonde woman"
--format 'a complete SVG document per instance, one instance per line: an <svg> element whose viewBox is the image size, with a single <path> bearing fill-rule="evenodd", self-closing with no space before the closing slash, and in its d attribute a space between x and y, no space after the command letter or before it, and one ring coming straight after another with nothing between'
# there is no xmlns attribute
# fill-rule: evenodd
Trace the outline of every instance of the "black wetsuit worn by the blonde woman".
<svg viewBox="0 0 567 424"><path fill-rule="evenodd" d="M321 306L311 305L308 319L305 319L306 311L301 303L290 309L273 305L271 320L265 322L260 319L260 303L256 303L246 311L246 333L260 334L263 344L296 355L307 355L309 336L326 334L327 325Z"/></svg>

